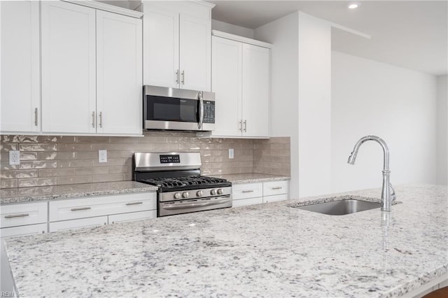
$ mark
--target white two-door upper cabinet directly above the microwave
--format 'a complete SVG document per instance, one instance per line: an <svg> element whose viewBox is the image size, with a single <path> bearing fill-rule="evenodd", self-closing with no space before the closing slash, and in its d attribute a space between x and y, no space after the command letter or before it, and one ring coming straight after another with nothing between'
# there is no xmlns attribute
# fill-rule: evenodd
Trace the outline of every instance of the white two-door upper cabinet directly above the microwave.
<svg viewBox="0 0 448 298"><path fill-rule="evenodd" d="M144 1L144 85L211 90L211 8Z"/></svg>

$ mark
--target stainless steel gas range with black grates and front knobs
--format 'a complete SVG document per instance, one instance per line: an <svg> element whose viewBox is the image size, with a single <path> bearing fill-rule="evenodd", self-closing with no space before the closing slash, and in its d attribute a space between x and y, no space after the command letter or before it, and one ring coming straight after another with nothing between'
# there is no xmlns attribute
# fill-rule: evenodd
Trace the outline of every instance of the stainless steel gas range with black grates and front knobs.
<svg viewBox="0 0 448 298"><path fill-rule="evenodd" d="M158 217L232 206L232 183L200 175L199 152L134 153L132 175L158 188Z"/></svg>

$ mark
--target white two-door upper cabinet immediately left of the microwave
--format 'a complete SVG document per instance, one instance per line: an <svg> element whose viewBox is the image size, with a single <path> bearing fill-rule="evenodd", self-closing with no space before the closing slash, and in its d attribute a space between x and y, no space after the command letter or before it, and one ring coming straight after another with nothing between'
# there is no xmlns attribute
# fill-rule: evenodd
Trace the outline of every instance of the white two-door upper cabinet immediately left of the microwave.
<svg viewBox="0 0 448 298"><path fill-rule="evenodd" d="M41 3L42 132L141 135L142 23Z"/></svg>

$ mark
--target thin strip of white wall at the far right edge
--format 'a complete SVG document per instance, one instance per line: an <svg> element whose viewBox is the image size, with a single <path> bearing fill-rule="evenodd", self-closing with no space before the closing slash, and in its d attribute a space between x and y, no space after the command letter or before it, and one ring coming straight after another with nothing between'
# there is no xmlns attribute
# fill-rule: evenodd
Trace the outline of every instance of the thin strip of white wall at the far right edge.
<svg viewBox="0 0 448 298"><path fill-rule="evenodd" d="M448 76L437 77L437 184L448 185Z"/></svg>

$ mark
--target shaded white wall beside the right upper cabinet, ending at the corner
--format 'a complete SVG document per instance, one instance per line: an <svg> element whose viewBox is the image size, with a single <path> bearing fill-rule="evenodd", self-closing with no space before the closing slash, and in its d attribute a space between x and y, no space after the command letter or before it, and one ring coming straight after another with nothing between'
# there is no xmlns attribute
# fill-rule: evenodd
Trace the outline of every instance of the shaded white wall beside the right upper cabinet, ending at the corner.
<svg viewBox="0 0 448 298"><path fill-rule="evenodd" d="M255 39L272 43L271 135L290 136L290 197L299 197L299 13L255 29Z"/></svg>

